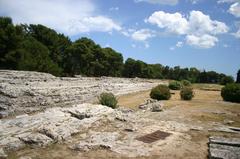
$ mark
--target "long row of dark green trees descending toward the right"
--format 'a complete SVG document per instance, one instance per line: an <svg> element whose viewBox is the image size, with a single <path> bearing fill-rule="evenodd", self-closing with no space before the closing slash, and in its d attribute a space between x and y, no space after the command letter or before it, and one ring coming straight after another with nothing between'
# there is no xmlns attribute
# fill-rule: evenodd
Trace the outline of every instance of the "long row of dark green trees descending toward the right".
<svg viewBox="0 0 240 159"><path fill-rule="evenodd" d="M0 17L0 69L48 72L56 76L113 76L155 79L187 79L200 83L231 83L233 78L197 68L171 68L128 58L93 40L72 42L43 25L14 25ZM240 73L238 73L240 74ZM240 76L238 77L240 78ZM240 79L238 79L240 81Z"/></svg>

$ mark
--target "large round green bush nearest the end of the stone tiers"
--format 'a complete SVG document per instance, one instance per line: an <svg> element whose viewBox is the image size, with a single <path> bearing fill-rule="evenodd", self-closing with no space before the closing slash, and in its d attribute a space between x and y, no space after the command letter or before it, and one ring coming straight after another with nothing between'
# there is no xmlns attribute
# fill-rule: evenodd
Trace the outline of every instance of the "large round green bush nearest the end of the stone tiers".
<svg viewBox="0 0 240 159"><path fill-rule="evenodd" d="M156 100L168 100L171 97L171 94L167 86L158 85L151 90L150 97Z"/></svg>

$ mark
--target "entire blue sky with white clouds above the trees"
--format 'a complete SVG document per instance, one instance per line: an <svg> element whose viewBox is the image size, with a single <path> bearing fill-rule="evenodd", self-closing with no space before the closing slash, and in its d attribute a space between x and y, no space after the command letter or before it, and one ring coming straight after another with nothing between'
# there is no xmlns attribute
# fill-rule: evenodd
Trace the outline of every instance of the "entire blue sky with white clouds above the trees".
<svg viewBox="0 0 240 159"><path fill-rule="evenodd" d="M240 0L0 0L0 16L91 38L125 60L240 69Z"/></svg>

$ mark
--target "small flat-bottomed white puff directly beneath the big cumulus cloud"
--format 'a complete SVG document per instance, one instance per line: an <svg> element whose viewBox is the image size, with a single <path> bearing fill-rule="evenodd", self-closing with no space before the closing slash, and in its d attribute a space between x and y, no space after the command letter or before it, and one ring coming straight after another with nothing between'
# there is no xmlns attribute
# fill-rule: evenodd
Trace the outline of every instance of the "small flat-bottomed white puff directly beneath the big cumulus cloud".
<svg viewBox="0 0 240 159"><path fill-rule="evenodd" d="M216 42L218 42L218 39L208 34L202 36L187 35L186 42L191 46L207 49L215 46Z"/></svg>

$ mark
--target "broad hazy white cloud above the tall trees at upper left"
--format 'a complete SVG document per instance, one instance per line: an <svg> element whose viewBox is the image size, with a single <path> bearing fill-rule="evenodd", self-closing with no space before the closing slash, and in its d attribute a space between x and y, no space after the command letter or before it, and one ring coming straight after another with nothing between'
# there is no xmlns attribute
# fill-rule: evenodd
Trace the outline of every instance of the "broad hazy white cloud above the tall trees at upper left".
<svg viewBox="0 0 240 159"><path fill-rule="evenodd" d="M120 30L111 18L95 15L89 0L1 0L0 14L15 23L43 24L67 35Z"/></svg>

